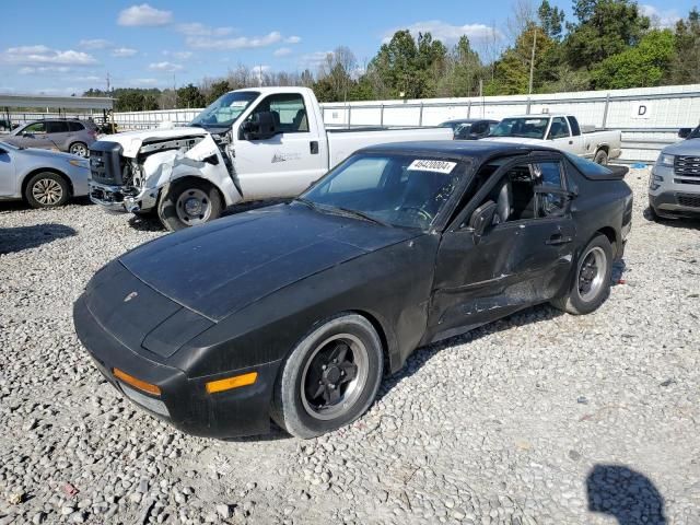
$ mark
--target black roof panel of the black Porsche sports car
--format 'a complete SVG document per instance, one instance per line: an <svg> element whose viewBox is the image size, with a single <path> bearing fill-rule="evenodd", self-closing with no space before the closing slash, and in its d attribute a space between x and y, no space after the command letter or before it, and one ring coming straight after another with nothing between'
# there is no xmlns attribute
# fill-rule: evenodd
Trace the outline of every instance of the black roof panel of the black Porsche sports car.
<svg viewBox="0 0 700 525"><path fill-rule="evenodd" d="M533 151L557 152L553 148L518 144L499 141L460 141L460 140L424 140L411 142L390 142L363 148L358 153L385 153L385 154L424 154L431 156L444 156L456 160L481 161L493 156L527 154Z"/></svg>

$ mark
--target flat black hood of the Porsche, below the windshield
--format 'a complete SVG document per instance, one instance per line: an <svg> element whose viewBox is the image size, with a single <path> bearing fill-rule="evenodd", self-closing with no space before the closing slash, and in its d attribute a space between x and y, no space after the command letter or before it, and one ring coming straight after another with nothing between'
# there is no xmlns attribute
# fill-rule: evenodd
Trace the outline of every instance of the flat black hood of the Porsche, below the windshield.
<svg viewBox="0 0 700 525"><path fill-rule="evenodd" d="M217 322L284 287L416 236L279 205L166 235L120 257L141 282Z"/></svg>

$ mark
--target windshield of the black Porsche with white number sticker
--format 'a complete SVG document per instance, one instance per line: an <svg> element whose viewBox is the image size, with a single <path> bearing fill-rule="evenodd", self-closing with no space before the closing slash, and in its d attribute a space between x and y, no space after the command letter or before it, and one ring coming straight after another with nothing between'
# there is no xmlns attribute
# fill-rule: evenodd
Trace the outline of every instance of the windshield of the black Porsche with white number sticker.
<svg viewBox="0 0 700 525"><path fill-rule="evenodd" d="M465 173L459 162L360 153L299 200L320 211L351 212L384 224L428 230Z"/></svg>

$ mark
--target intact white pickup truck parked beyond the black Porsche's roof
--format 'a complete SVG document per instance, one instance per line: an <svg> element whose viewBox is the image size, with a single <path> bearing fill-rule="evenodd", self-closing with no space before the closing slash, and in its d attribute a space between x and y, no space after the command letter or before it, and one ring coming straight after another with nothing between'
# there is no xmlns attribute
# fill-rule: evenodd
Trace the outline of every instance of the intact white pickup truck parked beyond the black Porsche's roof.
<svg viewBox="0 0 700 525"><path fill-rule="evenodd" d="M581 131L572 115L522 115L508 117L486 139L500 142L549 145L584 156L598 164L607 164L622 153L620 131Z"/></svg>

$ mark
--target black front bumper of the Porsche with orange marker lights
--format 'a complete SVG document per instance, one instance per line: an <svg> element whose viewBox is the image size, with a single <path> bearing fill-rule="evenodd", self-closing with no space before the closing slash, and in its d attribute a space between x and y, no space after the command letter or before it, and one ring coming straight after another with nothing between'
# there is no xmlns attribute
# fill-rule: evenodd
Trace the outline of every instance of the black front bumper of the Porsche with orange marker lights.
<svg viewBox="0 0 700 525"><path fill-rule="evenodd" d="M188 377L182 370L156 361L156 355L148 350L133 351L124 346L100 325L82 296L73 306L73 322L78 338L105 378L153 416L183 432L206 438L228 439L269 432L269 408L280 361L212 376ZM125 385L115 377L115 368L158 385L161 395L153 396ZM215 394L206 390L209 381L253 371L258 373L253 385Z"/></svg>

